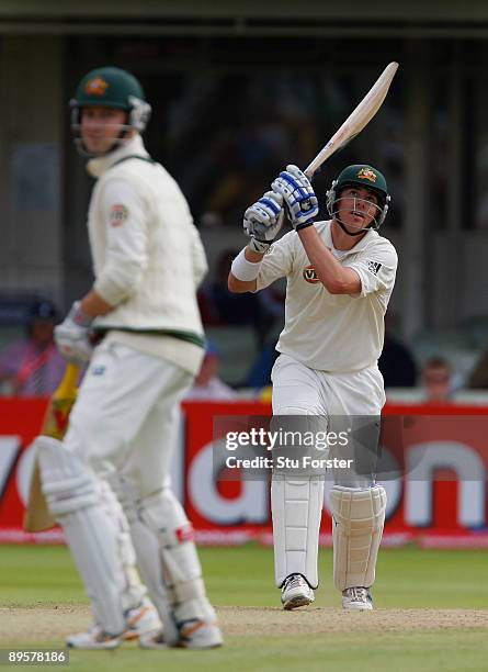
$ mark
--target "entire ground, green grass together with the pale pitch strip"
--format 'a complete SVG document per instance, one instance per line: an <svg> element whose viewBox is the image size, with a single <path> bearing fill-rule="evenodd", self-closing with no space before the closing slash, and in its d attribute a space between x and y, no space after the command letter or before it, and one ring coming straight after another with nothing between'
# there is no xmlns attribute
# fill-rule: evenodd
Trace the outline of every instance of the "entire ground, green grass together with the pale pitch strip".
<svg viewBox="0 0 488 672"><path fill-rule="evenodd" d="M219 650L71 651L69 670L386 670L488 669L486 551L381 552L373 613L347 614L320 553L313 607L284 613L273 586L271 549L203 548L208 593L226 637ZM0 647L63 647L89 623L83 590L64 547L0 546ZM254 607L254 608L252 608Z"/></svg>

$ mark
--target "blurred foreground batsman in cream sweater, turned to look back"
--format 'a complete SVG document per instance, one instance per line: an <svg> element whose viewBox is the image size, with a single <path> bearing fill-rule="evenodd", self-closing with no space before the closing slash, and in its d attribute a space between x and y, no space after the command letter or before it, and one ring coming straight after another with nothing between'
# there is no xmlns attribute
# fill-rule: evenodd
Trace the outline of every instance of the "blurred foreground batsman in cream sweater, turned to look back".
<svg viewBox="0 0 488 672"><path fill-rule="evenodd" d="M88 214L95 280L55 338L68 361L90 363L63 443L37 439L43 492L95 621L68 646L113 649L129 627L109 485L116 483L163 624L139 645L216 647L222 635L192 526L169 481L179 402L204 355L196 289L205 254L178 184L145 149L150 105L138 80L98 68L81 79L71 110L77 146L97 180Z"/></svg>

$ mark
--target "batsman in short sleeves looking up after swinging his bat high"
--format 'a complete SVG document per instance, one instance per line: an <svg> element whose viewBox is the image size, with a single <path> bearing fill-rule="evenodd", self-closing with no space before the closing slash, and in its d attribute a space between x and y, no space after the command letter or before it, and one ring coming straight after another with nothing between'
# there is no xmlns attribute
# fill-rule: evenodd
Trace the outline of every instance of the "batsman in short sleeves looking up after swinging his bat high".
<svg viewBox="0 0 488 672"><path fill-rule="evenodd" d="M331 220L316 222L318 202L309 180L287 166L246 211L243 227L251 239L232 262L229 289L257 292L277 278L287 281L272 371L274 416L321 416L329 423L338 416L379 416L385 392L377 360L397 269L394 246L378 234L389 200L379 170L348 166L327 192ZM274 242L285 210L294 231ZM334 584L345 609L372 609L386 493L373 468L348 479L333 475ZM315 598L324 479L273 471L275 580L285 609Z"/></svg>

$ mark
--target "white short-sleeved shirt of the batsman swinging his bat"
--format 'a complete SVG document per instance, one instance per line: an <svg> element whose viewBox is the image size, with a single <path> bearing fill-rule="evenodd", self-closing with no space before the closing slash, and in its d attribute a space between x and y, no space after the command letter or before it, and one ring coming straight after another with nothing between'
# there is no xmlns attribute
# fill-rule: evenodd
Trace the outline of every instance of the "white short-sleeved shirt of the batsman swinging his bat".
<svg viewBox="0 0 488 672"><path fill-rule="evenodd" d="M376 363L383 349L384 315L395 284L397 253L372 229L352 249L338 250L332 244L331 222L317 222L315 227L336 259L358 272L361 293L329 293L294 231L264 255L257 290L286 277L285 326L276 345L280 352L320 371L359 371Z"/></svg>

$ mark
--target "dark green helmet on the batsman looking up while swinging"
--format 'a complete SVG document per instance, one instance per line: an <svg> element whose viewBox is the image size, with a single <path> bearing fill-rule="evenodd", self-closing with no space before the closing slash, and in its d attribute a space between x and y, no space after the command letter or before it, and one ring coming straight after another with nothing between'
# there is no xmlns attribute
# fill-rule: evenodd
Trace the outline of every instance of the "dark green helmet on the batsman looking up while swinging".
<svg viewBox="0 0 488 672"><path fill-rule="evenodd" d="M367 164L354 164L344 168L327 192L327 212L333 216L337 214L337 201L339 194L345 187L362 187L372 191L378 199L379 216L377 217L376 228L383 224L388 212L388 204L391 197L388 193L385 177L379 170Z"/></svg>

